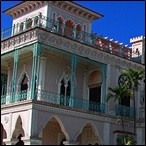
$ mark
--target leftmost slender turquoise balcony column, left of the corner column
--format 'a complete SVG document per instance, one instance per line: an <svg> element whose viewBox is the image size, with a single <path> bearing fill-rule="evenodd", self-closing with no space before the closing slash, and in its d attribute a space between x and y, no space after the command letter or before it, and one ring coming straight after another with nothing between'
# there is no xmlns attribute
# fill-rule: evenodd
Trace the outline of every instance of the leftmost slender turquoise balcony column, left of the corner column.
<svg viewBox="0 0 146 146"><path fill-rule="evenodd" d="M12 77L12 90L11 90L11 102L14 102L14 94L16 92L16 76L17 76L17 68L18 68L18 57L19 50L15 50L14 52L14 66L13 66L13 77Z"/></svg>

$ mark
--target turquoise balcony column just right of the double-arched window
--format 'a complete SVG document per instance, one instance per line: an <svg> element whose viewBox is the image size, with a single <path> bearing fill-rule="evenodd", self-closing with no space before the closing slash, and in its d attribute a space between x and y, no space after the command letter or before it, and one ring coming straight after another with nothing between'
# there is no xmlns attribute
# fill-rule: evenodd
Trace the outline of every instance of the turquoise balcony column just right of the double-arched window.
<svg viewBox="0 0 146 146"><path fill-rule="evenodd" d="M77 65L77 57L76 55L71 56L71 93L70 96L73 99L74 98L74 92L75 92L75 81L76 81L76 65ZM72 100L73 105L74 101Z"/></svg>

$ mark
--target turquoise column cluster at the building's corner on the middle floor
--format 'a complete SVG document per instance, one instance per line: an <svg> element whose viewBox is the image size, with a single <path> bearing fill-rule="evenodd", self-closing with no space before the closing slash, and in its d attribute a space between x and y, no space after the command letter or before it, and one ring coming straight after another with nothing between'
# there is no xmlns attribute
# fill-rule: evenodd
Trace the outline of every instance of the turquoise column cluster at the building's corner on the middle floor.
<svg viewBox="0 0 146 146"><path fill-rule="evenodd" d="M40 66L40 48L39 44L35 43L33 48L33 62L32 62L32 74L31 74L31 88L30 88L30 98L36 99L36 89L38 85L38 73Z"/></svg>

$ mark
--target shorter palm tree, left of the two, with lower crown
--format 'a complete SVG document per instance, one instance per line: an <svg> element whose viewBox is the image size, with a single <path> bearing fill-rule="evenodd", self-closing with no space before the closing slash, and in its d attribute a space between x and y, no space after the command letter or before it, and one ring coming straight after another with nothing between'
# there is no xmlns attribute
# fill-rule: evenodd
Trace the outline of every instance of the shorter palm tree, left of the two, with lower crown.
<svg viewBox="0 0 146 146"><path fill-rule="evenodd" d="M118 100L119 104L121 104L121 100L127 96L131 97L132 90L127 89L125 84L121 84L116 88L108 88L109 93L107 94L106 101L108 102L110 98L114 98L114 101ZM122 141L124 141L126 145L126 137L125 137L125 129L124 129L124 122L123 122L123 111L122 108L120 108L120 115L121 115L121 121L122 121L122 129L123 129L123 136Z"/></svg>

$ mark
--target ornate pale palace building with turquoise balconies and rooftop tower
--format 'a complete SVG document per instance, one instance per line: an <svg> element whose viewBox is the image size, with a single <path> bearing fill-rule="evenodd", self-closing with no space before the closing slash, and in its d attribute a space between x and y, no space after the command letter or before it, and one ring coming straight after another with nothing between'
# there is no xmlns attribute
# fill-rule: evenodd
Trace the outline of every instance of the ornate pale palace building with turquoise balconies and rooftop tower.
<svg viewBox="0 0 146 146"><path fill-rule="evenodd" d="M121 104L106 102L123 69L145 70L145 37L131 47L92 33L103 15L72 1L23 1L4 11L1 144L117 145L125 132L145 145L145 83ZM136 136L135 136L136 135Z"/></svg>

